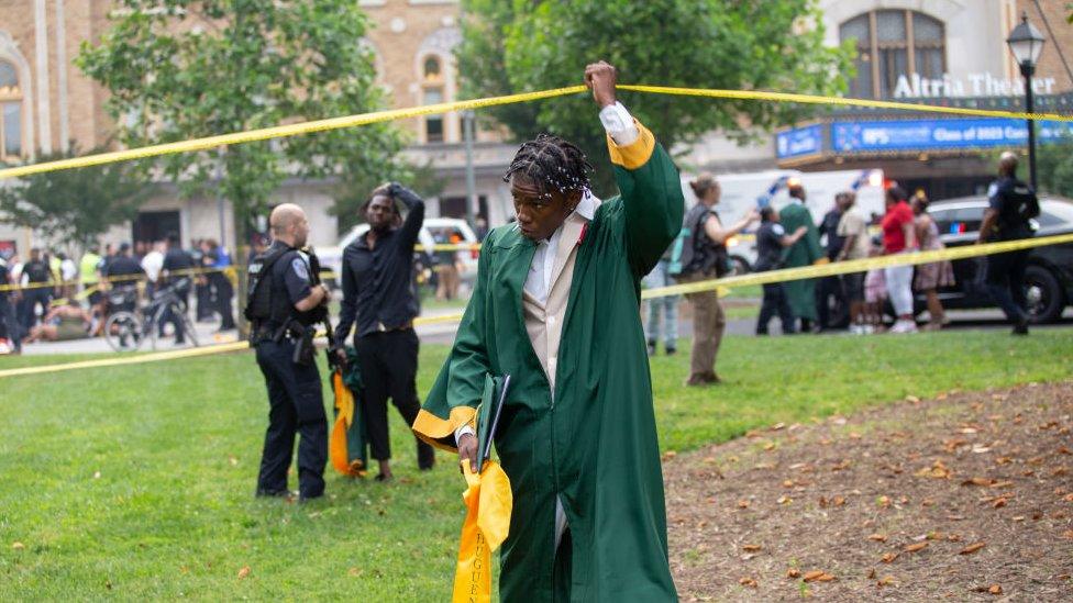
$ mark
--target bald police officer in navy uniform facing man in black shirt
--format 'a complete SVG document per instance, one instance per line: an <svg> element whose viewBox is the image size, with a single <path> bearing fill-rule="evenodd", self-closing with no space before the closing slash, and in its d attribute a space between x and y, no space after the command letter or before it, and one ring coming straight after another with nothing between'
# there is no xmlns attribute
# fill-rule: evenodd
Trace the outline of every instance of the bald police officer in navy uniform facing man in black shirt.
<svg viewBox="0 0 1073 603"><path fill-rule="evenodd" d="M300 249L309 222L298 205L285 203L268 220L274 242L250 265L251 345L268 388L268 431L257 477L258 496L286 496L287 470L298 443L299 501L324 493L328 418L320 373L312 354L312 331L327 317L330 293L310 257Z"/></svg>

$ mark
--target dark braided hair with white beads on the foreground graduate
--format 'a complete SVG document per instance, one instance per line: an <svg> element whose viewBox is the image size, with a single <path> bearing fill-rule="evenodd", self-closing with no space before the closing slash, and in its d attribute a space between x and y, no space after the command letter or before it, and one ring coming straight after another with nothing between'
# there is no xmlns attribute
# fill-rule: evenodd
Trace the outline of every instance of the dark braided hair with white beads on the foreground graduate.
<svg viewBox="0 0 1073 603"><path fill-rule="evenodd" d="M504 174L504 182L523 175L540 189L541 199L551 199L554 191L566 194L587 189L591 172L593 166L577 146L552 134L540 134L521 145Z"/></svg>

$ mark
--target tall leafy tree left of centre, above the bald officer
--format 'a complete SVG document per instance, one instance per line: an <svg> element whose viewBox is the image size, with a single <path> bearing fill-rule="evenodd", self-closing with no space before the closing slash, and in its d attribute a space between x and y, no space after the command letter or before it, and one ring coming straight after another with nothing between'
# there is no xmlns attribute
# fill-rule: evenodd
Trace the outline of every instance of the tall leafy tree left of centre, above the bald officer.
<svg viewBox="0 0 1073 603"><path fill-rule="evenodd" d="M358 0L121 0L112 26L78 65L111 92L131 146L362 113L384 105ZM403 169L391 124L168 155L186 196L221 194L248 227L288 177ZM240 234L241 236L241 234Z"/></svg>

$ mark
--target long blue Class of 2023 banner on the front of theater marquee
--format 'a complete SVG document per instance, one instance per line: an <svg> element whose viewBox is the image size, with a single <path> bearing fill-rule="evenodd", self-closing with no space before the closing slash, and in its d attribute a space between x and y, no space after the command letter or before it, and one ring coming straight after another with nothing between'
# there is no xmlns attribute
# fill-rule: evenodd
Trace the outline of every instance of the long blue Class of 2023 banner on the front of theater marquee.
<svg viewBox="0 0 1073 603"><path fill-rule="evenodd" d="M1073 136L1073 124L1037 122L1036 134L1042 142ZM831 146L836 153L1018 146L1027 139L1028 126L1024 121L996 118L831 124Z"/></svg>

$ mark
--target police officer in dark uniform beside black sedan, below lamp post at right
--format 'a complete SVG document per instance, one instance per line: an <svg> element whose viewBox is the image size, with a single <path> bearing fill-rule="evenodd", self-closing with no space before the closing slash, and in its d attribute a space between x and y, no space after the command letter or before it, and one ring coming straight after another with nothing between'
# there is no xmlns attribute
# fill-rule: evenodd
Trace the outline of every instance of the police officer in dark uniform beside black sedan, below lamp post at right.
<svg viewBox="0 0 1073 603"><path fill-rule="evenodd" d="M1017 155L1006 152L998 160L998 180L987 190L989 206L984 210L977 243L1030 238L1036 232L1031 220L1039 215L1039 199L1032 187L1017 179ZM1029 249L987 256L987 289L1015 335L1028 335L1028 300L1025 269Z"/></svg>

